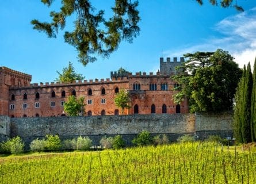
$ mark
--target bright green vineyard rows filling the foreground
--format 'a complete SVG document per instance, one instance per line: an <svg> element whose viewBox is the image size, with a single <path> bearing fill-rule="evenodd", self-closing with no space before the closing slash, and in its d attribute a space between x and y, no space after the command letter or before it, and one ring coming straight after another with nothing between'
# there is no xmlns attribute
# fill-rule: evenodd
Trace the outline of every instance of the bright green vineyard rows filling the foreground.
<svg viewBox="0 0 256 184"><path fill-rule="evenodd" d="M255 183L256 151L184 143L0 158L0 183Z"/></svg>

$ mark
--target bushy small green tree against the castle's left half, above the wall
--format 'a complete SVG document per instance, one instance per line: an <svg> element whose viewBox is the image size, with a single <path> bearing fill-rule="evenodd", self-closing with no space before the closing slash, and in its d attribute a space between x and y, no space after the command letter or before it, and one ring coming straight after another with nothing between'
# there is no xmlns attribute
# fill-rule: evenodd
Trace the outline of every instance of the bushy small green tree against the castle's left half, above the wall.
<svg viewBox="0 0 256 184"><path fill-rule="evenodd" d="M67 102L64 103L64 112L66 112L68 116L82 115L85 112L84 100L85 97L79 97L77 99L74 95L69 96Z"/></svg>

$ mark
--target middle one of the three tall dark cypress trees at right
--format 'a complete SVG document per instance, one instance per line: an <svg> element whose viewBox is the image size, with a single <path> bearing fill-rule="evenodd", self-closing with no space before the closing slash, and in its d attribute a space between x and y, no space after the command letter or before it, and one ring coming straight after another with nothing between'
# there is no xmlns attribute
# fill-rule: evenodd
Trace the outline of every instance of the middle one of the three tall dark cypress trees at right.
<svg viewBox="0 0 256 184"><path fill-rule="evenodd" d="M243 143L251 141L251 90L253 88L253 75L251 74L250 63L247 65L244 80L243 106L242 106L242 139Z"/></svg>

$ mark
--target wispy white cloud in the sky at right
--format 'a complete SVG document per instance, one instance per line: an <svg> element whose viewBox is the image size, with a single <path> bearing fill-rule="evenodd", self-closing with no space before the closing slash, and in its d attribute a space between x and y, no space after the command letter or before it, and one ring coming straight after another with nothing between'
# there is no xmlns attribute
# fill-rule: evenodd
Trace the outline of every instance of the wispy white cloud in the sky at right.
<svg viewBox="0 0 256 184"><path fill-rule="evenodd" d="M216 51L217 48L229 51L239 67L248 62L253 65L256 57L256 7L236 16L227 17L215 25L221 37L207 38L197 45L163 52L166 56L181 56L196 51Z"/></svg>

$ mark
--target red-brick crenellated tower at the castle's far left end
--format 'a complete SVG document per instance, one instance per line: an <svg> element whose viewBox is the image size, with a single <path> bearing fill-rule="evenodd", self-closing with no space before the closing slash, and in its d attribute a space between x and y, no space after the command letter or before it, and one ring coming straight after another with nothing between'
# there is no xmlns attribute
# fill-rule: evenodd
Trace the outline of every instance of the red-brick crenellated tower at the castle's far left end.
<svg viewBox="0 0 256 184"><path fill-rule="evenodd" d="M9 116L9 88L28 86L31 79L31 75L0 67L0 115Z"/></svg>

